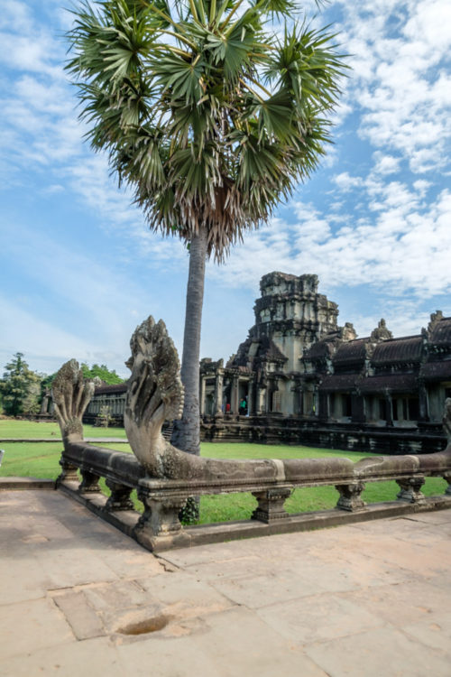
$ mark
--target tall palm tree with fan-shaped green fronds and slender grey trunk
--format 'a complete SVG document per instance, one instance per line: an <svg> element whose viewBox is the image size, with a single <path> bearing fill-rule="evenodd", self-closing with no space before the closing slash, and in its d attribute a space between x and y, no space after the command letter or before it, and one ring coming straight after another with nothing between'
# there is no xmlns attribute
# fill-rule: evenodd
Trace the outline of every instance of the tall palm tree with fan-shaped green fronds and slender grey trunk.
<svg viewBox="0 0 451 677"><path fill-rule="evenodd" d="M206 260L223 261L267 221L329 141L343 58L327 29L287 27L296 10L295 0L106 0L74 11L68 69L90 143L151 229L189 247L175 443L190 453Z"/></svg>

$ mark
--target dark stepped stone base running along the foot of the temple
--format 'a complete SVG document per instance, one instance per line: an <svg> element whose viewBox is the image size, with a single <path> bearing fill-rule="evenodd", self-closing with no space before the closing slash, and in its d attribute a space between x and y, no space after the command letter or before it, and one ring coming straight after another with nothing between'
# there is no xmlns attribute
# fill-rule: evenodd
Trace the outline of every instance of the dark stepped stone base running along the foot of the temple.
<svg viewBox="0 0 451 677"><path fill-rule="evenodd" d="M201 439L214 442L258 442L369 451L383 454L428 454L446 447L441 425L419 428L381 428L355 423L320 423L286 416L204 417Z"/></svg>

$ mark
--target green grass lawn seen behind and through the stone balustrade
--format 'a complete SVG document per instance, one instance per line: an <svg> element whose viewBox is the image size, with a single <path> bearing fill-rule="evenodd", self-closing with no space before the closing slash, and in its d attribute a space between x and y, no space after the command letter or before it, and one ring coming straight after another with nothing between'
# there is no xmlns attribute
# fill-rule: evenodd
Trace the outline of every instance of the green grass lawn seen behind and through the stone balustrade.
<svg viewBox="0 0 451 677"><path fill-rule="evenodd" d="M17 422L17 429L10 423L10 432L3 433L0 421L0 437L22 438L23 431L31 431L29 434L36 437L50 437L49 432L41 433L41 426L56 425L52 423L30 423ZM14 423L14 422L13 422ZM29 425L30 428L23 427ZM36 430L38 432L36 432ZM51 428L48 428L51 430ZM92 428L85 426L85 436L94 437L91 431L96 431L97 437L105 435L105 429ZM102 434L99 435L99 431ZM107 437L125 437L123 429L106 429ZM113 433L114 431L114 433ZM122 434L116 434L121 431ZM13 434L14 433L14 434ZM131 451L128 444L110 443L103 445L108 449L119 451ZM2 444L5 449L5 458L0 468L0 476L19 476L35 478L55 479L60 473L60 452L62 443L55 442L5 442ZM281 445L264 444L214 444L212 442L202 443L202 456L214 459L319 459L324 457L346 457L354 462L364 459L369 454L358 453L355 451L325 450L314 449L312 447L286 447ZM103 489L108 493L104 482L101 483ZM423 487L423 493L426 496L437 496L444 494L446 490L446 481L441 478L427 478ZM381 501L395 500L399 487L396 482L374 482L368 483L364 490L363 498L367 503L379 503ZM133 492L134 494L134 492ZM334 507L338 494L334 487L311 487L295 489L289 500L286 502L286 509L289 513L310 512L313 510L325 510ZM137 509L142 509L134 496ZM200 499L201 519L199 524L210 524L213 522L228 522L233 520L249 519L257 502L252 494L233 494L225 496L202 496Z"/></svg>

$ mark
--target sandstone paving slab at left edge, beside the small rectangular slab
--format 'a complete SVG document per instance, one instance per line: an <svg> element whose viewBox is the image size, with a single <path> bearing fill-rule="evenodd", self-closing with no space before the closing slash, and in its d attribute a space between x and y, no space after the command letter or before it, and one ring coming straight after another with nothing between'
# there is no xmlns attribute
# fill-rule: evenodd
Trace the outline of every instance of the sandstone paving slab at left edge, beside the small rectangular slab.
<svg viewBox="0 0 451 677"><path fill-rule="evenodd" d="M32 599L0 607L2 660L32 654L42 647L66 644L73 638L69 624L51 599Z"/></svg>

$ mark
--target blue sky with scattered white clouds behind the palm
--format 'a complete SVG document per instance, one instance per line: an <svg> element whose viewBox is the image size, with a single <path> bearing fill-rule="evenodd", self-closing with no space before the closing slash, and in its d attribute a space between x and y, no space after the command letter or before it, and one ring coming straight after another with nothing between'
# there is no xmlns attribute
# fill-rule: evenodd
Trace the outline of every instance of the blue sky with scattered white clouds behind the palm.
<svg viewBox="0 0 451 677"><path fill-rule="evenodd" d="M149 232L83 140L64 5L2 0L0 374L21 351L41 373L75 357L126 377L150 314L181 351L188 255ZM352 68L335 143L267 226L207 264L202 357L235 353L272 271L318 274L361 337L382 317L403 336L451 315L451 3L337 0L314 21L335 23Z"/></svg>

